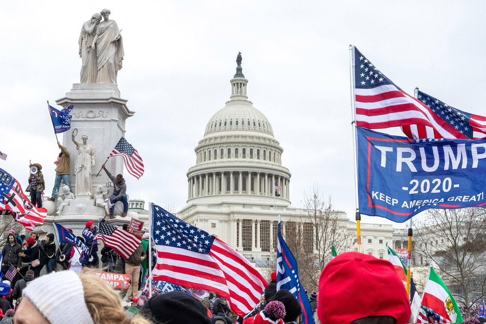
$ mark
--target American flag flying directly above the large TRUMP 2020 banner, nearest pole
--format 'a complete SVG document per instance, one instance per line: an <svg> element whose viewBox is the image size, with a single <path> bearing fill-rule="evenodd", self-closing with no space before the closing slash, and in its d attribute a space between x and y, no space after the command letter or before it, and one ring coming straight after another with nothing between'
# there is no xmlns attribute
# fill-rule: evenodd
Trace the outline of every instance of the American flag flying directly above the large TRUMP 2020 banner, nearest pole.
<svg viewBox="0 0 486 324"><path fill-rule="evenodd" d="M383 129L423 125L427 133L412 133L410 136L416 137L411 138L467 138L455 136L457 130L451 124L391 82L355 47L352 54L356 126Z"/></svg>

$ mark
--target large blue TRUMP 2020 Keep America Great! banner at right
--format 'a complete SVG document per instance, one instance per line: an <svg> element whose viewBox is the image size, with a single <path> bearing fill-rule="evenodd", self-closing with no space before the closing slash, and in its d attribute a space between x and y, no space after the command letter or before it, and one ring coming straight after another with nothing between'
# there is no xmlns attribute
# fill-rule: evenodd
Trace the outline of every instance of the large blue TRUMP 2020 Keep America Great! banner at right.
<svg viewBox="0 0 486 324"><path fill-rule="evenodd" d="M410 140L356 129L361 214L404 222L429 208L485 206L486 138Z"/></svg>

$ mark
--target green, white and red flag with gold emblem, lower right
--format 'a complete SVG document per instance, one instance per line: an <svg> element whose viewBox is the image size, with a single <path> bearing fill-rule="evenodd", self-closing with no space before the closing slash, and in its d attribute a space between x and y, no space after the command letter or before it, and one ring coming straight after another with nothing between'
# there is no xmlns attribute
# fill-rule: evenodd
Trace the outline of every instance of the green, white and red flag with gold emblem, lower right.
<svg viewBox="0 0 486 324"><path fill-rule="evenodd" d="M429 279L425 284L422 295L422 306L429 307L438 315L441 315L452 323L462 323L462 315L454 297L447 289L441 278L430 268Z"/></svg>

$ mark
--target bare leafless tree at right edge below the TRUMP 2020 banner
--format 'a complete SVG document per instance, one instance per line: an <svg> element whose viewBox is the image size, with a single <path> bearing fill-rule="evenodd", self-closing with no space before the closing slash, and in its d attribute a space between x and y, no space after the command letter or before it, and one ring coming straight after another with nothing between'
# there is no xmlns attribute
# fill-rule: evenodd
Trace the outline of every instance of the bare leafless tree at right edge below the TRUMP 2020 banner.
<svg viewBox="0 0 486 324"><path fill-rule="evenodd" d="M415 251L469 312L486 296L486 210L428 210L415 226Z"/></svg>

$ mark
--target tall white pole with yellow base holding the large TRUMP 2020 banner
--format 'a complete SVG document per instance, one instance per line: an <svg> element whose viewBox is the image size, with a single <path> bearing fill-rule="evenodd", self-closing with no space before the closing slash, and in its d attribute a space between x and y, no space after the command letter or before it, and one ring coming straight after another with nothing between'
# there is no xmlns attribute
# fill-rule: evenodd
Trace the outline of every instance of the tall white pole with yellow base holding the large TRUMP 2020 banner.
<svg viewBox="0 0 486 324"><path fill-rule="evenodd" d="M358 252L361 252L361 214L359 213L359 203L358 203L358 157L356 148L356 109L354 104L354 70L353 70L353 58L354 58L354 46L350 44L350 85L351 85L351 115L353 116L353 121L351 122L351 127L353 128L353 157L354 157L354 199L356 204L356 235L358 236Z"/></svg>

